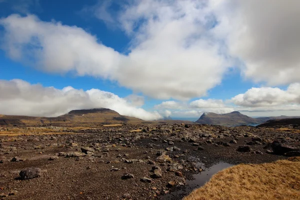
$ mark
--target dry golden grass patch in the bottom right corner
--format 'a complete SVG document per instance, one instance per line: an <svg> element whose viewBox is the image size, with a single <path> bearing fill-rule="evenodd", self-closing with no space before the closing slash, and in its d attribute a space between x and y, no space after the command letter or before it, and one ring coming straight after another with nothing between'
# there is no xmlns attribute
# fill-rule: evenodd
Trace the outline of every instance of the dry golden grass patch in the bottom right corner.
<svg viewBox="0 0 300 200"><path fill-rule="evenodd" d="M183 198L208 199L300 199L300 157L229 167Z"/></svg>

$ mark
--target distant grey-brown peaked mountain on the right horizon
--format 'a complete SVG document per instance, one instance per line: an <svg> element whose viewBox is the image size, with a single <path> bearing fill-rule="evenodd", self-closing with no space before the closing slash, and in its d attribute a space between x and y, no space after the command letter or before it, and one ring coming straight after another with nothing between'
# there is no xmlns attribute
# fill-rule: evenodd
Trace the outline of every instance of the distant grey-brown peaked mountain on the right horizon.
<svg viewBox="0 0 300 200"><path fill-rule="evenodd" d="M224 125L224 126L237 126L237 125L249 125L259 124L263 120L252 118L247 115L241 114L238 111L233 111L226 114L216 114L213 112L204 112L196 123L200 124L213 124L213 125Z"/></svg>

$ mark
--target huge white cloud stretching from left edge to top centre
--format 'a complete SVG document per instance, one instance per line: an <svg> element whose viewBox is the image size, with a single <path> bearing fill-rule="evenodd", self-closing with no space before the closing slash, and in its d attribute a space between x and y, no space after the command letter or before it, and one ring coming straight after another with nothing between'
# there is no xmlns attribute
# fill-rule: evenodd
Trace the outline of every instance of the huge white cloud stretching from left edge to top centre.
<svg viewBox="0 0 300 200"><path fill-rule="evenodd" d="M2 48L48 72L97 76L154 98L187 100L219 84L229 65L209 34L210 15L200 1L136 1L119 13L121 26L131 28L128 55L79 27L10 15L0 19Z"/></svg>

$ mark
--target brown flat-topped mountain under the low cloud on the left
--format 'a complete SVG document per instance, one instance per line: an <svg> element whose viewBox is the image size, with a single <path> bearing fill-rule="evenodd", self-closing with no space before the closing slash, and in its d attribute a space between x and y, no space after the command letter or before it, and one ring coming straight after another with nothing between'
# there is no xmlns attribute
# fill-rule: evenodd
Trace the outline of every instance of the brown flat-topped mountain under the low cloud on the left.
<svg viewBox="0 0 300 200"><path fill-rule="evenodd" d="M71 110L57 117L0 115L0 125L5 126L93 126L122 122L136 124L144 121L107 108Z"/></svg>

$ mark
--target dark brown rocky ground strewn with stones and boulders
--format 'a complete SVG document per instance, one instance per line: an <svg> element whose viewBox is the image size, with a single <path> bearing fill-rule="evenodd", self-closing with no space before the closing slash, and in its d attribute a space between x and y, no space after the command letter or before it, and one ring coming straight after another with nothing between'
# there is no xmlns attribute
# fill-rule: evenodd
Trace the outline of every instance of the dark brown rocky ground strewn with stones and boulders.
<svg viewBox="0 0 300 200"><path fill-rule="evenodd" d="M269 127L58 129L0 136L0 199L181 199L193 189L186 179L201 173L196 162L209 167L220 161L262 163L300 155L300 133ZM22 179L19 172L27 167L38 167L40 174ZM186 192L172 195L178 189Z"/></svg>

